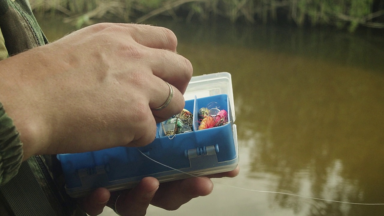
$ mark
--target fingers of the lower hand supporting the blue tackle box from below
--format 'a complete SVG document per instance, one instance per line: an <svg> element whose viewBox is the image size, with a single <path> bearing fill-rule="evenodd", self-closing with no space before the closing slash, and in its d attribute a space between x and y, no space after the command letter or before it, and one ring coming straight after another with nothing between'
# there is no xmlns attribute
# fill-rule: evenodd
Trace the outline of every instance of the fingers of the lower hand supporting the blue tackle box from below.
<svg viewBox="0 0 384 216"><path fill-rule="evenodd" d="M233 171L212 174L199 178L188 178L159 184L156 178L147 177L133 189L109 193L106 188L98 188L79 203L87 214L99 215L107 205L112 207L111 197L120 194L116 211L121 216L142 216L146 214L149 204L176 210L193 198L206 196L212 192L213 183L210 178L235 177L239 167Z"/></svg>

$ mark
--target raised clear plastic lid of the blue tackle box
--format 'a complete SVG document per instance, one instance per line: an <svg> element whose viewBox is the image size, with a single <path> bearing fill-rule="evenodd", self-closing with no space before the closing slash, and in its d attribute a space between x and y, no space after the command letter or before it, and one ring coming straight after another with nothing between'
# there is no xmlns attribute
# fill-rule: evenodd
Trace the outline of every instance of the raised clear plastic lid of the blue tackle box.
<svg viewBox="0 0 384 216"><path fill-rule="evenodd" d="M203 98L220 94L228 95L232 111L232 120L235 121L232 79L231 74L228 72L193 76L184 93L184 99L193 100L195 96L197 98Z"/></svg>

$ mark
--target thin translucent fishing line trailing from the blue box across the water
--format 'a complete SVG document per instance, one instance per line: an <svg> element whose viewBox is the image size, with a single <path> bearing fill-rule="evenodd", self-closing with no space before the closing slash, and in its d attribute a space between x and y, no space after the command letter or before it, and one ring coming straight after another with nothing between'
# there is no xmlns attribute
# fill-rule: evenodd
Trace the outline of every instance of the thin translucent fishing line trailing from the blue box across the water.
<svg viewBox="0 0 384 216"><path fill-rule="evenodd" d="M137 148L137 150L139 150L139 149ZM149 160L154 161L155 163L161 164L162 166L165 166L165 167L167 167L167 168L173 169L173 170L178 171L178 172L180 172L180 173L187 174L187 175L192 176L192 177L201 178L200 176L195 176L195 175L193 175L193 174L186 173L186 172L181 171L181 170L179 170L179 169L175 169L175 168L173 168L173 167L167 166L166 164L162 164L162 163L160 163L159 161L153 160L153 159L150 158L149 156L147 156L147 155L145 155L144 153L142 153L142 151L140 151L140 150L139 150L139 152L140 152L142 155L144 155L146 158L148 158ZM212 181L212 182L217 183L217 184L222 184L222 185L225 185L225 186L228 186L228 187L232 187L232 188L242 189L242 190L245 190L245 191L261 192L261 193L283 194L283 195L288 195L288 196L296 196L296 197L307 198L307 199L316 199L316 200L322 200L322 201L328 201L328 202L334 202L334 203L345 203L345 204L354 204L354 205L384 205L384 203L351 203L351 202L337 201L337 200L331 200L331 199L321 199L321 198L310 197L310 196L301 196L301 195L298 195L298 194L283 193L283 192L277 192L277 191L259 191L259 190L253 190L253 189L247 189L247 188L240 188L240 187L236 187L236 186L232 186L232 185L229 185L229 184L224 184L224 183L220 183L220 182L216 182L216 181Z"/></svg>

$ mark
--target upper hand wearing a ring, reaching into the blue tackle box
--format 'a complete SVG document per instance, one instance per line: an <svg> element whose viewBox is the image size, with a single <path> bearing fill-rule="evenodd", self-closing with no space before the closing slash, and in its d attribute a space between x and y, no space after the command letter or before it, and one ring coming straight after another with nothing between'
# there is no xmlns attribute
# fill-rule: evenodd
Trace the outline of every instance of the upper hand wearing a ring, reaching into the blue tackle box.
<svg viewBox="0 0 384 216"><path fill-rule="evenodd" d="M162 27L100 23L0 61L0 101L35 154L145 146L184 108L191 63ZM174 95L163 110L172 85Z"/></svg>

